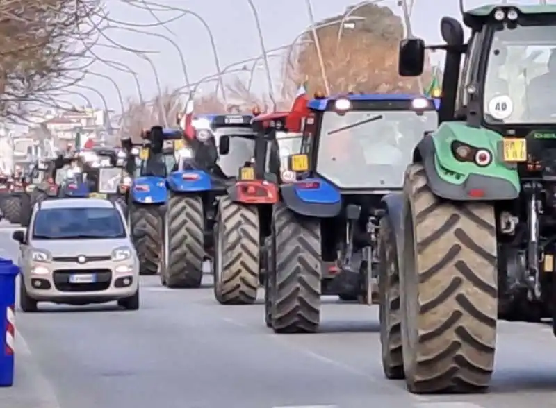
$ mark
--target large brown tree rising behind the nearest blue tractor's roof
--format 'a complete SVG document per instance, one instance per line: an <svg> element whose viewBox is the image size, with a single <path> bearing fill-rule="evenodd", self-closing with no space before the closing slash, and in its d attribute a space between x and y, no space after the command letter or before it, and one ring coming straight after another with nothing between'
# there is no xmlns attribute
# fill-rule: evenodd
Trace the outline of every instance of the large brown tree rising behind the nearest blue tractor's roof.
<svg viewBox="0 0 556 408"><path fill-rule="evenodd" d="M349 12L347 8L346 12ZM318 29L318 38L332 93L338 92L422 92L415 81L398 76L398 44L403 35L402 20L388 7L369 3L357 10L363 21L345 29L338 42L338 25ZM341 19L329 17L318 25ZM293 99L297 87L307 82L310 92L325 90L311 35L297 47L291 60L284 60L283 99Z"/></svg>

